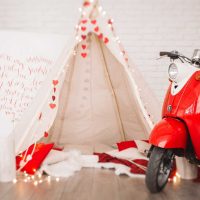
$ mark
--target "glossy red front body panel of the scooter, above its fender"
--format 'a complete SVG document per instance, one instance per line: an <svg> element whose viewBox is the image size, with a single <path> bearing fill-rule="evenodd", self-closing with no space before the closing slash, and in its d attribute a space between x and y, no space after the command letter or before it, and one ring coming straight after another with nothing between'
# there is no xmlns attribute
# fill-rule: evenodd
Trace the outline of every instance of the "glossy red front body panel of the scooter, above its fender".
<svg viewBox="0 0 200 200"><path fill-rule="evenodd" d="M162 109L162 117L179 118L184 121L195 154L200 159L200 71L196 71L176 95L169 86Z"/></svg>

